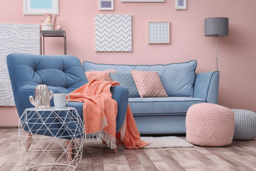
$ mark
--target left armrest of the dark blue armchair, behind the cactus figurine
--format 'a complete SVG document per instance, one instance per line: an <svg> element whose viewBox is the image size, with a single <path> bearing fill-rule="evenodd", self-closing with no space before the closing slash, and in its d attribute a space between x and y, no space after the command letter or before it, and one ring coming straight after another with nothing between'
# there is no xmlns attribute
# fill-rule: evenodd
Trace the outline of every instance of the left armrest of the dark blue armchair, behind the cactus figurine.
<svg viewBox="0 0 256 171"><path fill-rule="evenodd" d="M19 116L21 116L23 114L25 109L35 107L30 103L29 96L32 95L35 98L35 87L36 86L37 85L24 85L23 87L21 87L19 89L19 92L17 95L18 102L16 103L16 101L15 101ZM54 94L61 93L61 91L55 87L52 87L52 86L47 86L47 87L48 87L49 91L53 91ZM51 99L50 102L51 102L51 107L54 107L53 98Z"/></svg>

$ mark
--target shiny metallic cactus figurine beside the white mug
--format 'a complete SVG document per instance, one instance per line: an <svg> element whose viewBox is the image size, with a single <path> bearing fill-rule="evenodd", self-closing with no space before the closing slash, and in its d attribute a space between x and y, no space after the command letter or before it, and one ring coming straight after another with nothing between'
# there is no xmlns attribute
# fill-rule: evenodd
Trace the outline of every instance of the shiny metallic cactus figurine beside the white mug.
<svg viewBox="0 0 256 171"><path fill-rule="evenodd" d="M47 85L41 84L35 87L35 99L29 96L29 101L36 109L50 108L50 100L53 97L53 92L48 90Z"/></svg>

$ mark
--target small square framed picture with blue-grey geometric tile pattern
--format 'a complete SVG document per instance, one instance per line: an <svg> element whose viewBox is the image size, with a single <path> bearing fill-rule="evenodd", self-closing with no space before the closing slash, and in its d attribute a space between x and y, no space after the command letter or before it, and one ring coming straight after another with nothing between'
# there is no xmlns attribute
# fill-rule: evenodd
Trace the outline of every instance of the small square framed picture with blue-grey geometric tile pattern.
<svg viewBox="0 0 256 171"><path fill-rule="evenodd" d="M148 22L148 44L170 43L170 22Z"/></svg>

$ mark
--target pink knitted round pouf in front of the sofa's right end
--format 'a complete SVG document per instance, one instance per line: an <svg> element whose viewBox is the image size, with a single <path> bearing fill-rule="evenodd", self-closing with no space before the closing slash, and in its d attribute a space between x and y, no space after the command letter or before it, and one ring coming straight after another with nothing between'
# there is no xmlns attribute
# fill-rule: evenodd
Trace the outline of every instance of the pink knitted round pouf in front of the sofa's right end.
<svg viewBox="0 0 256 171"><path fill-rule="evenodd" d="M217 104L192 105L186 114L186 139L199 146L227 146L232 143L235 116Z"/></svg>

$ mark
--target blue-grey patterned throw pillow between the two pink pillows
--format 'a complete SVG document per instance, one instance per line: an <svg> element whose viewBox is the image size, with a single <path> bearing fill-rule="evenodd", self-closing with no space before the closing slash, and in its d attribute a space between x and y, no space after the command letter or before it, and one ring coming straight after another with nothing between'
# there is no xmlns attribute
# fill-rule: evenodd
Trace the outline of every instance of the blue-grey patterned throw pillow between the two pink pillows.
<svg viewBox="0 0 256 171"><path fill-rule="evenodd" d="M140 97L137 87L130 73L119 74L119 73L109 73L113 81L119 82L122 86L128 88L129 98Z"/></svg>

